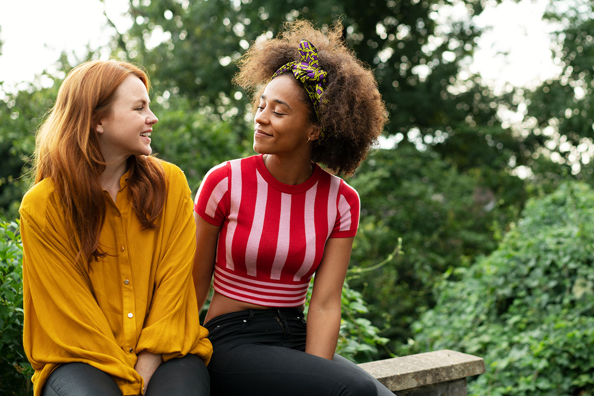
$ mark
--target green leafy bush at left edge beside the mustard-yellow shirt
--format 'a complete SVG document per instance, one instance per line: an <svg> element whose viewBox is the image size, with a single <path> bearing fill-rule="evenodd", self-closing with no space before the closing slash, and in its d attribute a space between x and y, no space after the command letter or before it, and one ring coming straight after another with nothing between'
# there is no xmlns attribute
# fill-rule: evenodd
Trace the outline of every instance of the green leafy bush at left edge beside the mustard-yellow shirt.
<svg viewBox="0 0 594 396"><path fill-rule="evenodd" d="M23 351L23 246L18 224L0 221L0 393L32 394Z"/></svg>

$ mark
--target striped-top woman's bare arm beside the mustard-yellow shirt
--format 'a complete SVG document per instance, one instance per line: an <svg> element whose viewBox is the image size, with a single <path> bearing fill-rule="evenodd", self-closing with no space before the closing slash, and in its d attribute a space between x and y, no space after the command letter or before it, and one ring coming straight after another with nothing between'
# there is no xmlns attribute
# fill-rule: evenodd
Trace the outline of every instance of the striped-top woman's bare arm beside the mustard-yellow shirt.
<svg viewBox="0 0 594 396"><path fill-rule="evenodd" d="M196 223L196 253L194 255L192 277L194 277L198 311L200 311L204 306L204 302L206 302L208 290L210 290L210 281L213 278L220 227L207 223L195 212L194 221Z"/></svg>

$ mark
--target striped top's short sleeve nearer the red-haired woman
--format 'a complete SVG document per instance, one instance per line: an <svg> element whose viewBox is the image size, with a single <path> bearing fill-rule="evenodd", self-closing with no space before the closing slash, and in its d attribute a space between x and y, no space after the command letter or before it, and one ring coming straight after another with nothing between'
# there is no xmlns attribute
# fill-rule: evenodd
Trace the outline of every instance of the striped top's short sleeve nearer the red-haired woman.
<svg viewBox="0 0 594 396"><path fill-rule="evenodd" d="M210 169L194 201L194 211L213 226L221 226L229 207L229 166L222 163Z"/></svg>

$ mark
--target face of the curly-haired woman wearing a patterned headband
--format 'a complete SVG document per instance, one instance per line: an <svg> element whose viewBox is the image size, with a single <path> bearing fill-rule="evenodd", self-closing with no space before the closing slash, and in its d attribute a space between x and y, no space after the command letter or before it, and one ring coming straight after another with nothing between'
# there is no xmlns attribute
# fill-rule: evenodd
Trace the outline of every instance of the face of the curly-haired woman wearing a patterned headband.
<svg viewBox="0 0 594 396"><path fill-rule="evenodd" d="M254 117L256 153L311 156L318 128L311 122L311 110L301 99L303 89L288 74L266 85Z"/></svg>

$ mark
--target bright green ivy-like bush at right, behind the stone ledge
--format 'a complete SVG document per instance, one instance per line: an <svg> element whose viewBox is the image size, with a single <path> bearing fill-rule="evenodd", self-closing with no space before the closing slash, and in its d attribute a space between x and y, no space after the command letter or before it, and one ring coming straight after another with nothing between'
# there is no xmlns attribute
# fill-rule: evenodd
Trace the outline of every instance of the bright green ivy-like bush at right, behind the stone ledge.
<svg viewBox="0 0 594 396"><path fill-rule="evenodd" d="M473 395L593 395L594 191L565 183L530 199L497 250L448 271L436 294L403 353L484 357Z"/></svg>

